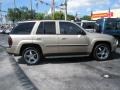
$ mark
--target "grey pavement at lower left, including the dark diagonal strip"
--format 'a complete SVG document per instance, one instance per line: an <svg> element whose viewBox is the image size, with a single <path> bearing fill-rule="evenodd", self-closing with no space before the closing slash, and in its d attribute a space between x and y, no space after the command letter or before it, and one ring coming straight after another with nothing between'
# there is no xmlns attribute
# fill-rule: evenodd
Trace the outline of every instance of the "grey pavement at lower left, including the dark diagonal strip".
<svg viewBox="0 0 120 90"><path fill-rule="evenodd" d="M1 37L0 37L1 39ZM2 38L3 39L3 38ZM3 44L3 43L0 43ZM23 70L0 46L0 90L38 90Z"/></svg>

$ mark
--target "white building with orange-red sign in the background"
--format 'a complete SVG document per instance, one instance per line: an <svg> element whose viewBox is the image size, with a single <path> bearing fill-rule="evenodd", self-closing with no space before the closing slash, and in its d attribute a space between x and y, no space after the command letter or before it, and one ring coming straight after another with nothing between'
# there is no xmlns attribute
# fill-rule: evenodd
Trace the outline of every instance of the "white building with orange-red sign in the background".
<svg viewBox="0 0 120 90"><path fill-rule="evenodd" d="M120 18L120 9L108 9L92 12L91 20L97 20L100 18Z"/></svg>

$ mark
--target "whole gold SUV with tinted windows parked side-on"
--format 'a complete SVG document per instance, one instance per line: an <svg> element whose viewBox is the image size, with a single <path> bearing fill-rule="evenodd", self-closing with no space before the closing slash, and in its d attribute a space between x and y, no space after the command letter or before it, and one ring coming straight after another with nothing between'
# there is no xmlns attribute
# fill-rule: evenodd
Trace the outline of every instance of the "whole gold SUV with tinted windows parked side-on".
<svg viewBox="0 0 120 90"><path fill-rule="evenodd" d="M109 35L89 33L70 21L41 20L19 22L8 38L8 53L20 55L27 64L43 57L92 55L106 60L116 50L117 40Z"/></svg>

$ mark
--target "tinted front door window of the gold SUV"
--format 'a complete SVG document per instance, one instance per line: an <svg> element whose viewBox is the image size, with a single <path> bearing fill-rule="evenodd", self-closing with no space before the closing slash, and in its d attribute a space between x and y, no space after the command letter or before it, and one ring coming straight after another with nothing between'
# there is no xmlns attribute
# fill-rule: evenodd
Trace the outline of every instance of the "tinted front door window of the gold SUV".
<svg viewBox="0 0 120 90"><path fill-rule="evenodd" d="M73 23L69 23L69 22L60 22L60 33L61 34L80 34L81 29L73 24Z"/></svg>

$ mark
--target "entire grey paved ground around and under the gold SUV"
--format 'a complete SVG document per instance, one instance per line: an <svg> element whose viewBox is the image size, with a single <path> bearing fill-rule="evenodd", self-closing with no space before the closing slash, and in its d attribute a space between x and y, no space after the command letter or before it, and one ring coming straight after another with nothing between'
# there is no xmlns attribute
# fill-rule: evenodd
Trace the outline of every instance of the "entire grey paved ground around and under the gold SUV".
<svg viewBox="0 0 120 90"><path fill-rule="evenodd" d="M120 48L107 61L56 58L33 66L0 51L0 90L120 90Z"/></svg>

